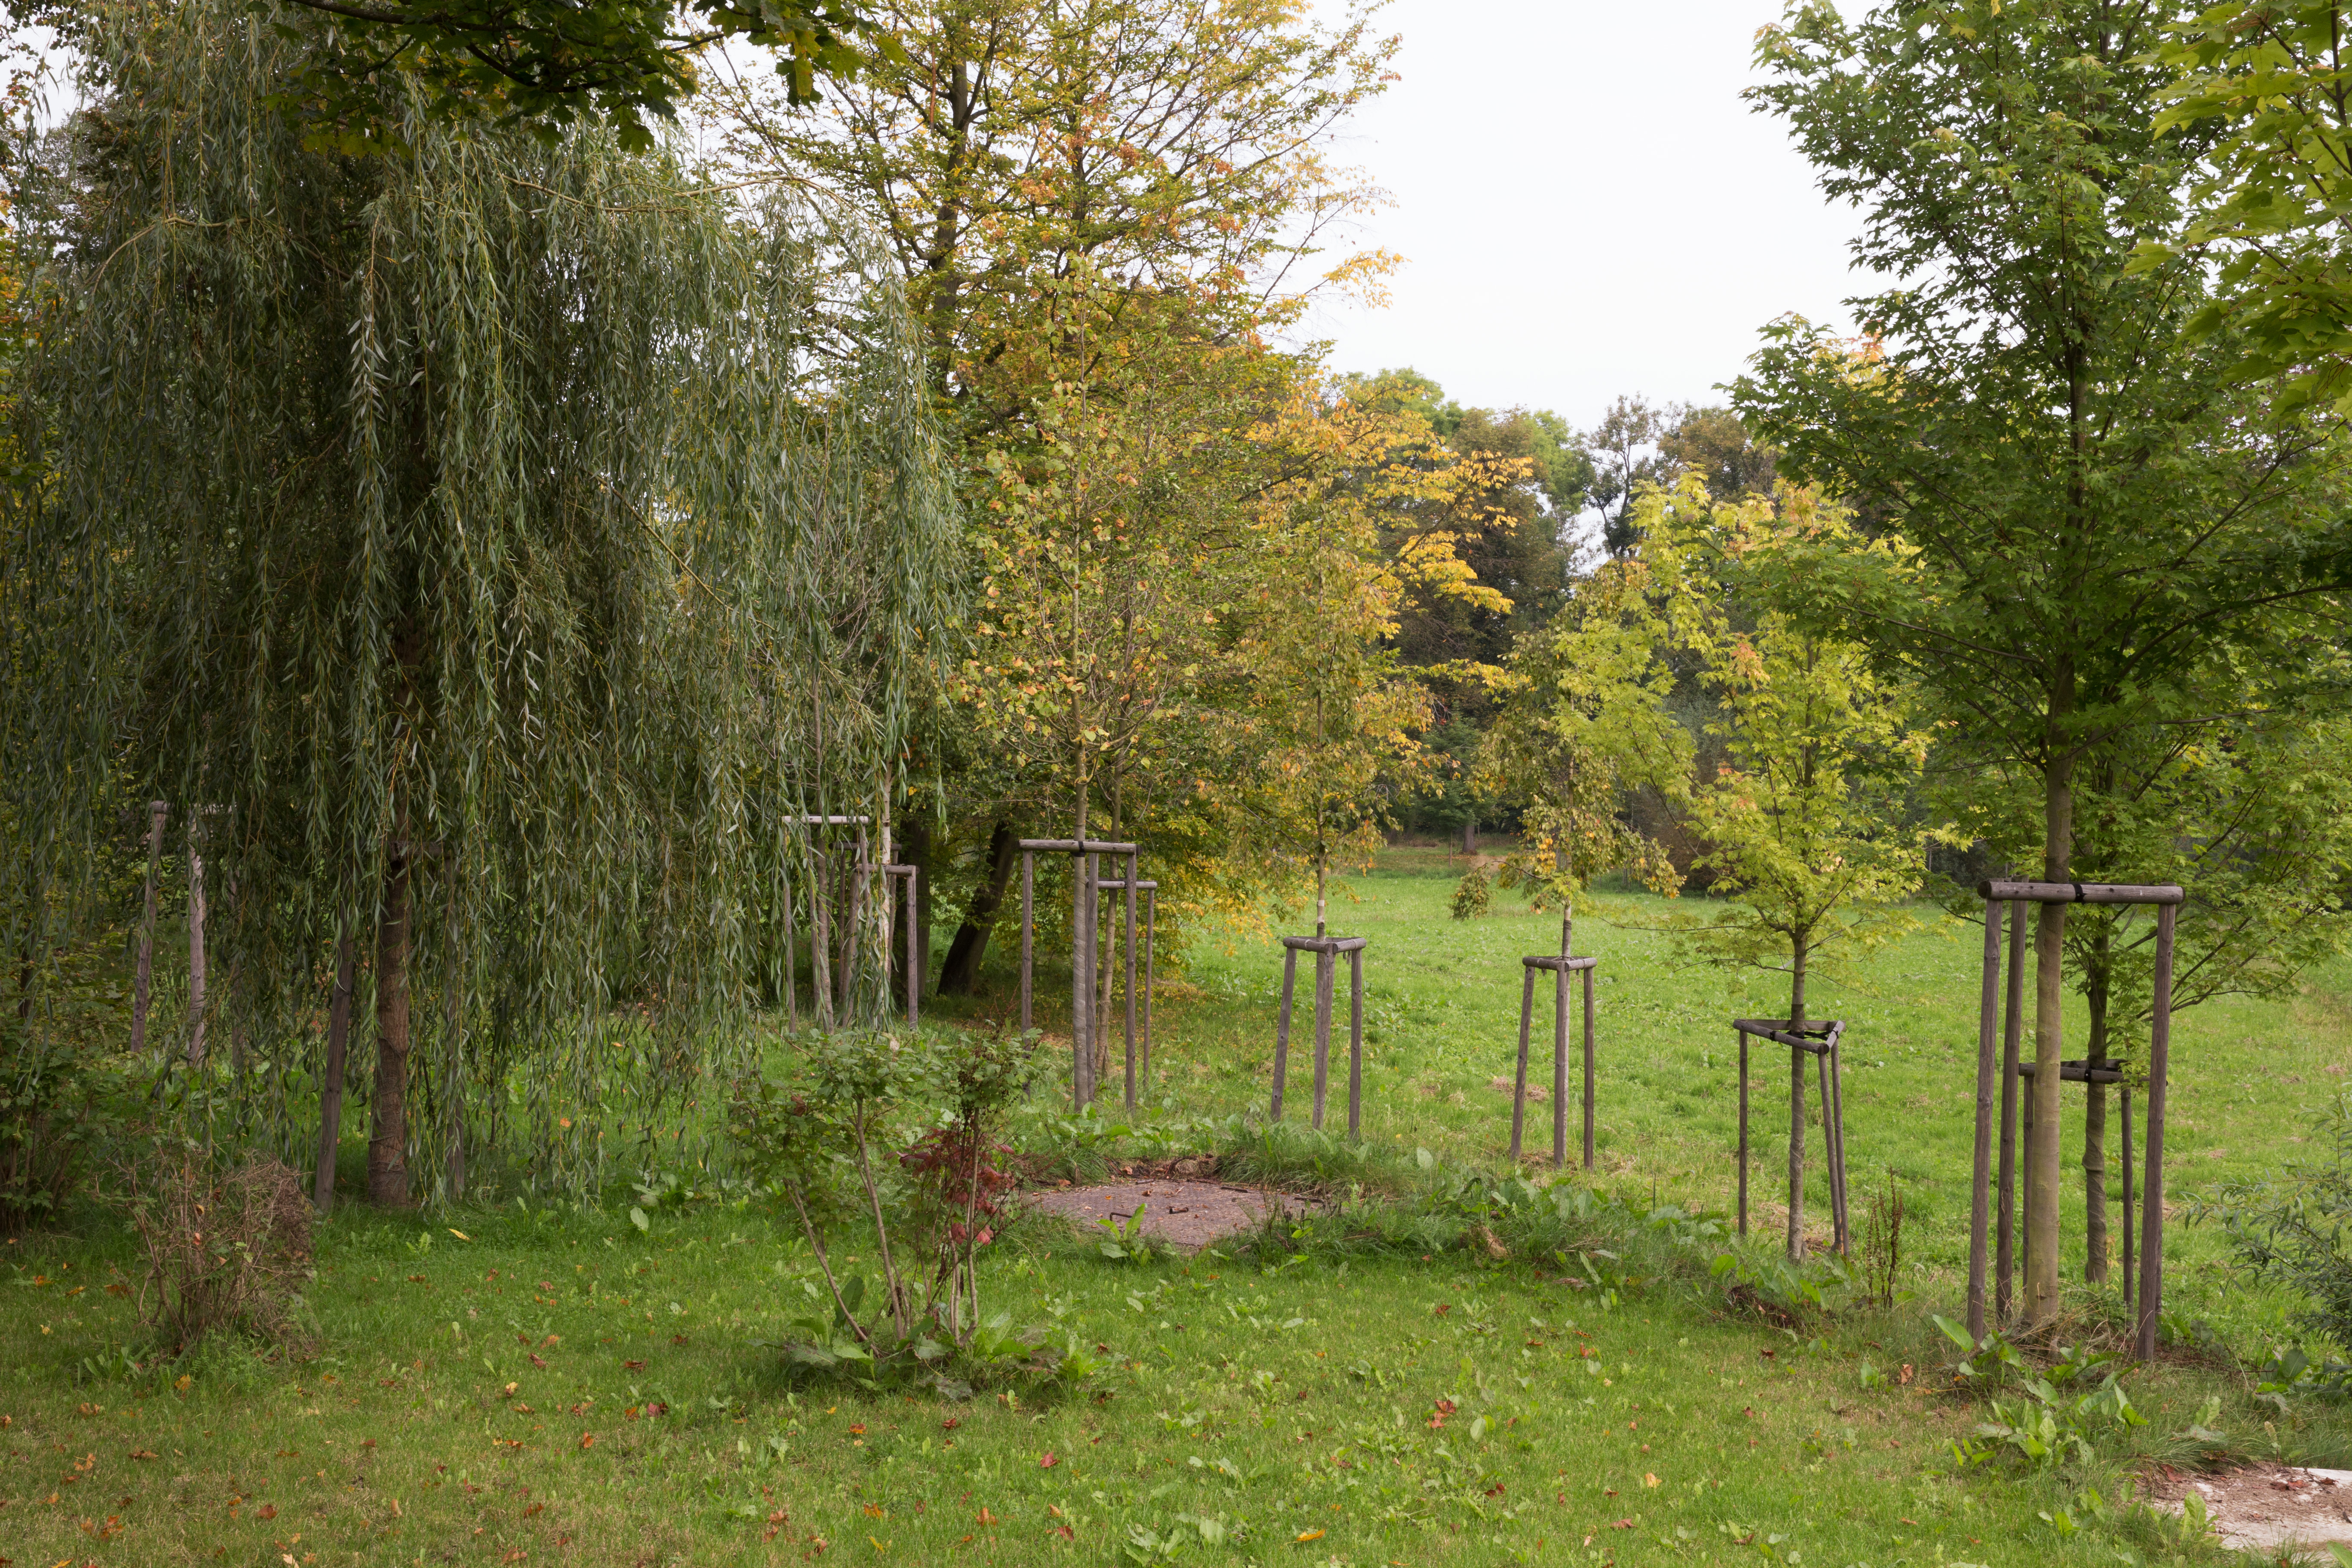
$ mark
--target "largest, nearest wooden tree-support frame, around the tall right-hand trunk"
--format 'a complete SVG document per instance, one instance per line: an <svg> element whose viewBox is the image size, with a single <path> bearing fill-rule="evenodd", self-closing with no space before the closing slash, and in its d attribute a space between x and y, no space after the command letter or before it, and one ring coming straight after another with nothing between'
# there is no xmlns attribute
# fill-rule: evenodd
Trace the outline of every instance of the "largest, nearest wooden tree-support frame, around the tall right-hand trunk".
<svg viewBox="0 0 2352 1568"><path fill-rule="evenodd" d="M2140 1255L2138 1255L2138 1319L2133 1324L2133 1354L2140 1361L2157 1356L2157 1316L2164 1312L2164 1074L2171 1060L2173 1037L2173 924L2185 893L2173 884L2114 884L2114 882L1980 882L1978 898L1985 900L1985 985L1978 1001L1976 1027L1976 1171L1969 1192L1969 1333L1978 1342L1985 1338L1985 1262L1987 1232L1992 1229L1992 1126L1994 1126L1994 1074L1999 1074L1999 1166L2002 1166L2002 1215L1999 1215L1999 1312L2009 1312L2009 1276L2013 1269L2013 1201L2016 1201L2016 1150L2018 1150L2018 1084L2034 1077L2018 1060L2018 1034L2023 1027L2025 992L2025 905L2042 903L2100 903L2100 905L2154 905L2157 907L2157 978L2147 1013L2147 1138L2145 1173L2140 1178ZM2009 905L2009 985L2002 985L2002 914ZM2006 990L2006 997L2004 997ZM2004 1023L2006 1001L2006 1023ZM1999 1032L1999 1058L1994 1034ZM2079 1070L2079 1072L2070 1072ZM2091 1081L2089 1063L2060 1063L2060 1081ZM2122 1074L2098 1081L2124 1081ZM2131 1100L2124 1100L2124 1291L2131 1300ZM2058 1246L2058 1239L2049 1239Z"/></svg>

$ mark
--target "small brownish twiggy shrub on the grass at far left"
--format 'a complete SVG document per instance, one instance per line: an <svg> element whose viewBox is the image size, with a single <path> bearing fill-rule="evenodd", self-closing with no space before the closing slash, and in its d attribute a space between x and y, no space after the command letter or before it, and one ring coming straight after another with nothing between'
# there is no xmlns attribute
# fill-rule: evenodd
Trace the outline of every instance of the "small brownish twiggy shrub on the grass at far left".
<svg viewBox="0 0 2352 1568"><path fill-rule="evenodd" d="M139 1316L172 1354L214 1333L294 1338L310 1279L310 1201L275 1159L216 1171L200 1145L162 1143L122 1168L146 1262Z"/></svg>

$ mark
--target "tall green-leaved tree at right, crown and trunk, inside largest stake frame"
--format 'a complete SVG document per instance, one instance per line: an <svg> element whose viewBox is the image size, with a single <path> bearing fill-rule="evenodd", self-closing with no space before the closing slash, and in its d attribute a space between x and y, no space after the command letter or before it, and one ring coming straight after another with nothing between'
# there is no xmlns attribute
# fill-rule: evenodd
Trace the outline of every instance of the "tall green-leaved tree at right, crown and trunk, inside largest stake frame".
<svg viewBox="0 0 2352 1568"><path fill-rule="evenodd" d="M2204 715L2194 672L2324 599L2326 433L2258 418L2223 346L2183 327L2194 263L2131 268L2178 230L2206 143L2157 127L2169 5L1969 0L1853 21L1804 7L1757 45L1823 188L1867 209L1867 343L1780 322L1736 407L1903 541L1792 541L1759 595L1856 642L1929 703L1987 788L2030 778L2039 875L2079 877L2100 748ZM2058 1307L2058 1063L2067 907L2042 905L2023 1312Z"/></svg>

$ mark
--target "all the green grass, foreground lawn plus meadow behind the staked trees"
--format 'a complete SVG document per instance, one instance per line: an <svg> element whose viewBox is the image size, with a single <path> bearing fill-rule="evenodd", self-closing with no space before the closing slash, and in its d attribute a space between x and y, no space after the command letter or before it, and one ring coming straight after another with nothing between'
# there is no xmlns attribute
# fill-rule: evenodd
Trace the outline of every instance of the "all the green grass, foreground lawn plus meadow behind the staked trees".
<svg viewBox="0 0 2352 1568"><path fill-rule="evenodd" d="M1489 1084L1510 1072L1517 954L1550 947L1557 917L1451 922L1456 875L1435 851L1390 853L1336 926L1371 938L1367 1140L1472 1166L1508 1140L1508 1095ZM1729 1206L1726 1020L1773 1011L1771 994L1677 969L1658 938L1590 917L1578 947L1604 961L1599 1185ZM1105 1371L946 1403L786 1375L762 1340L811 1262L757 1206L659 1213L640 1232L621 1206L506 1201L341 1211L310 1291L315 1354L214 1345L122 1375L139 1345L127 1241L35 1237L5 1248L0 1286L0 1559L2213 1559L2119 1507L2133 1465L2211 1450L2178 1436L2209 1396L2232 1453L2340 1465L2352 1425L2338 1408L2260 1406L2211 1354L2136 1373L2150 1425L2091 1467L1952 1458L1983 1406L1947 1392L1950 1347L1924 1314L1952 1307L1966 1244L1976 952L1969 929L1924 933L1882 954L1867 987L1820 997L1851 1023L1856 1206L1889 1173L1905 1192L1915 1298L1893 1312L1788 1331L1736 1309L1703 1260L1609 1305L1552 1260L1275 1248L1131 1265L1030 1225L983 1269L990 1307L1103 1347ZM1160 1006L1155 1117L1263 1105L1277 983L1263 938L1195 945ZM2286 1004L2176 1020L2176 1197L2310 1135L2347 1065L2347 992L2352 976L2326 973ZM962 1011L1009 997L1000 985ZM1759 1072L1759 1213L1780 1084ZM1303 1114L1303 1074L1291 1105ZM2079 1192L2067 1222L2079 1237ZM2288 1302L2234 1279L2209 1232L2176 1225L2171 1248L2183 1324L2204 1319L2241 1352L2284 1333ZM2112 1316L2089 1291L2074 1307L2086 1326ZM1865 1363L1882 1373L1870 1387Z"/></svg>

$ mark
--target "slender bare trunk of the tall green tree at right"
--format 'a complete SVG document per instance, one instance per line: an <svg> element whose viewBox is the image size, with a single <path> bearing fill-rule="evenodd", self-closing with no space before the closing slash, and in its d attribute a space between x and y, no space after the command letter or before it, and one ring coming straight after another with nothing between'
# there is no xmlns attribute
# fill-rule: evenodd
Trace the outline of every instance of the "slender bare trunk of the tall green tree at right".
<svg viewBox="0 0 2352 1568"><path fill-rule="evenodd" d="M2051 691L2049 764L2042 788L2042 879L2067 882L2074 858L2074 757L2060 722L2074 703L2072 663L2060 661ZM2058 1081L2065 1060L2065 905L2042 905L2034 924L2034 1081L2025 1138L2025 1279L2018 1314L2027 1328L2058 1312Z"/></svg>

